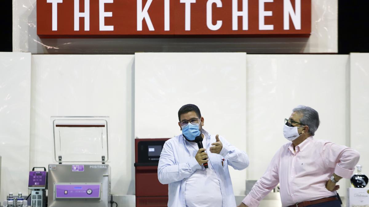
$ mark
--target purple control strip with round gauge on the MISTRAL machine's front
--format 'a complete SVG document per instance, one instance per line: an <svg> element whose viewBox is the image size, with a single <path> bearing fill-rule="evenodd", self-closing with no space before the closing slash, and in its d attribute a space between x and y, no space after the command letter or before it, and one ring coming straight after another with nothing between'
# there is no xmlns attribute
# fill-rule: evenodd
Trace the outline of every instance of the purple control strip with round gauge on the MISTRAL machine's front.
<svg viewBox="0 0 369 207"><path fill-rule="evenodd" d="M100 185L55 184L57 199L99 199Z"/></svg>

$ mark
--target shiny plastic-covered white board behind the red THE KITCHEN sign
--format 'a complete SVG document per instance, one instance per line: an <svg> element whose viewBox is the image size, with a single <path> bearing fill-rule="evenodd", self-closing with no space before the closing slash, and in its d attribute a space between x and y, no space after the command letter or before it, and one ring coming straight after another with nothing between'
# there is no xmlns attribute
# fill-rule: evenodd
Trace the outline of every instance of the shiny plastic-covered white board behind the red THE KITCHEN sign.
<svg viewBox="0 0 369 207"><path fill-rule="evenodd" d="M338 52L338 0L312 0L311 9L310 38L40 39L36 32L36 0L13 0L13 51L34 54Z"/></svg>

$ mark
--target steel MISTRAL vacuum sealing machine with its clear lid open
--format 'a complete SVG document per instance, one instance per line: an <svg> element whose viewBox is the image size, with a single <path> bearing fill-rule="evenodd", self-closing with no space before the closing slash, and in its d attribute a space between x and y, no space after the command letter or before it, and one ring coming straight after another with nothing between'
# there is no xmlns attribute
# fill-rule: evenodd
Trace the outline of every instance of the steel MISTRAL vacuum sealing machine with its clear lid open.
<svg viewBox="0 0 369 207"><path fill-rule="evenodd" d="M110 207L108 117L52 117L48 207Z"/></svg>

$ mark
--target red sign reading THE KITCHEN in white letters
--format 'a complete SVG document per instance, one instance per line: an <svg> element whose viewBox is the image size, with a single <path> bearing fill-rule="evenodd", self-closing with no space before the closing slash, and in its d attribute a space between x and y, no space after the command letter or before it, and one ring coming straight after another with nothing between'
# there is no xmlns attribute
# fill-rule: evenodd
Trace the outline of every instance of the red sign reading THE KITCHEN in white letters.
<svg viewBox="0 0 369 207"><path fill-rule="evenodd" d="M41 38L310 32L311 0L37 0Z"/></svg>

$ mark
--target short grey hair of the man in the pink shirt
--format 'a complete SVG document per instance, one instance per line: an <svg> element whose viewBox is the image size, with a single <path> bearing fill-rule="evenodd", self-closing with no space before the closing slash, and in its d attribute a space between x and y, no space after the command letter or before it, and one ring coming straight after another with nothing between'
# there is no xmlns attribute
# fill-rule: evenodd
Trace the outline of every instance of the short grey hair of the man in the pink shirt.
<svg viewBox="0 0 369 207"><path fill-rule="evenodd" d="M308 132L314 136L315 131L318 129L320 123L318 112L313 108L303 105L297 106L292 111L303 115L300 119L300 123L309 126Z"/></svg>

